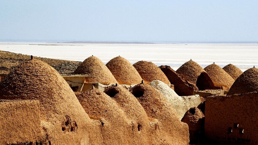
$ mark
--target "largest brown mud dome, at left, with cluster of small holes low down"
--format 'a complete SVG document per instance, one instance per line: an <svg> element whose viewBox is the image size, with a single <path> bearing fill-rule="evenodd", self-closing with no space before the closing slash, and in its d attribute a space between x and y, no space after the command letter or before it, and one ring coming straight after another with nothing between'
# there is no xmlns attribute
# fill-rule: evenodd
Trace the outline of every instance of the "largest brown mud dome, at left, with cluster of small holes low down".
<svg viewBox="0 0 258 145"><path fill-rule="evenodd" d="M93 125L88 115L66 81L47 63L24 62L0 84L0 99L39 100L39 130L49 144L90 143L88 128Z"/></svg>

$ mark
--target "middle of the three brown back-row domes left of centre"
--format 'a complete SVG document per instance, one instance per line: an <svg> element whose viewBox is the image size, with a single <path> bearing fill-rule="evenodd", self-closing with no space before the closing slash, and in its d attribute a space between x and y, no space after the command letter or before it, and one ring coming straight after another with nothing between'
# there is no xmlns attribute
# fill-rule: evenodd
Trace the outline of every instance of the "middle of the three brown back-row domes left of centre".
<svg viewBox="0 0 258 145"><path fill-rule="evenodd" d="M134 85L141 83L140 74L128 60L121 56L109 60L106 66L119 84Z"/></svg>

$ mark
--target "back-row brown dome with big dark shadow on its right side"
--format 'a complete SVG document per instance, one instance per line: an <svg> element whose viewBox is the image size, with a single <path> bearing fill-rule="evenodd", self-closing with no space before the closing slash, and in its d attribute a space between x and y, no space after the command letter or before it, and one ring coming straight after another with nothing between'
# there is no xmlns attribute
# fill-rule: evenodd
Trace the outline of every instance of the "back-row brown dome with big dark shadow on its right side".
<svg viewBox="0 0 258 145"><path fill-rule="evenodd" d="M198 90L215 89L207 72L196 62L190 60L180 66L176 73L186 81L198 87Z"/></svg>

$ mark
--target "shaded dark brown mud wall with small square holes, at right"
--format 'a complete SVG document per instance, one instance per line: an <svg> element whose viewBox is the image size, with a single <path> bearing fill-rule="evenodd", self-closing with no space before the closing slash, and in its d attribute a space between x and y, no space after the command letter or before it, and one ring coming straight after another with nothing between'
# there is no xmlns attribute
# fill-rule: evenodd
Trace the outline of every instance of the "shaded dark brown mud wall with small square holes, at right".
<svg viewBox="0 0 258 145"><path fill-rule="evenodd" d="M206 98L205 135L228 144L258 144L257 92Z"/></svg>

